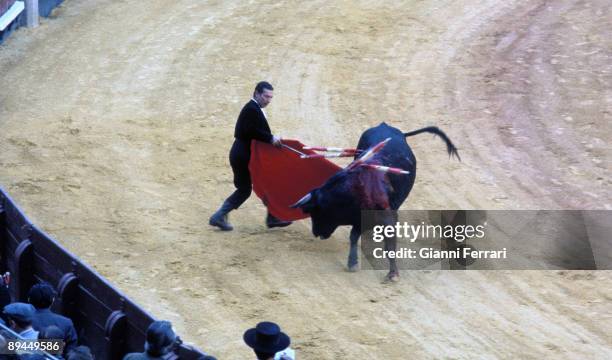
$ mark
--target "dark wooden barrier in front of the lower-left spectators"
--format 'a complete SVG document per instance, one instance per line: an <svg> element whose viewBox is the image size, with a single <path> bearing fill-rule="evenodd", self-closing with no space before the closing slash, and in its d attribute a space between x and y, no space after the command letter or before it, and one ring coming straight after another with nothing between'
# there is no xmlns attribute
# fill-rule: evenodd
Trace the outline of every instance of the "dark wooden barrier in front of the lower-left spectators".
<svg viewBox="0 0 612 360"><path fill-rule="evenodd" d="M52 310L72 319L79 344L91 348L97 360L121 359L144 349L145 332L153 317L108 281L32 225L0 188L0 272L12 274L14 301L27 301L32 285L46 281L58 298ZM204 354L181 345L180 359Z"/></svg>

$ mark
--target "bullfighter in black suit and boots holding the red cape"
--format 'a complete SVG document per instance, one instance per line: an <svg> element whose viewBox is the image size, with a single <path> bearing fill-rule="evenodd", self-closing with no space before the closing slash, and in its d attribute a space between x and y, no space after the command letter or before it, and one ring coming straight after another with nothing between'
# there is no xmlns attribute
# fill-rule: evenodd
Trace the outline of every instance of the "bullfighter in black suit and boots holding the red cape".
<svg viewBox="0 0 612 360"><path fill-rule="evenodd" d="M209 219L208 223L223 231L233 230L227 221L227 214L238 209L246 199L251 196L252 183L249 172L249 160L251 159L251 140L258 140L281 146L280 137L272 135L264 108L272 101L274 88L266 81L261 81L255 86L253 98L244 105L234 131L234 144L230 150L230 165L234 173L234 186L236 191L232 193L223 205ZM266 225L269 228L290 225L291 221L282 221L270 214L266 217Z"/></svg>

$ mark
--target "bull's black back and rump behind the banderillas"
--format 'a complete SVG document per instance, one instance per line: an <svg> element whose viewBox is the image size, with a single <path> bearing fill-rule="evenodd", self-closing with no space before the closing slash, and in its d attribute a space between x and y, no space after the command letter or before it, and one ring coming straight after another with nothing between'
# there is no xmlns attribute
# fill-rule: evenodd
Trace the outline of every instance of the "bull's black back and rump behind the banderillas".
<svg viewBox="0 0 612 360"><path fill-rule="evenodd" d="M391 138L391 141L376 154L375 160L378 160L383 166L396 167L410 172L408 175L388 174L391 183L389 203L392 209L397 210L408 197L416 177L416 158L406 142L404 133L383 122L366 130L361 135L357 148L365 150L387 138Z"/></svg>

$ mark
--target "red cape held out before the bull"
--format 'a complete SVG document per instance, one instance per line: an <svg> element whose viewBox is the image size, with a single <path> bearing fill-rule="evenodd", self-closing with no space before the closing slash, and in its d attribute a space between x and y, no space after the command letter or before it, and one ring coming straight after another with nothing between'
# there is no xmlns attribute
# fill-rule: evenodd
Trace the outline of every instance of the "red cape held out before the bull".
<svg viewBox="0 0 612 360"><path fill-rule="evenodd" d="M315 154L304 150L297 140L285 140L283 144L304 154ZM301 159L300 155L287 149L253 140L249 170L255 194L268 207L272 215L281 220L299 220L308 217L295 204L311 190L323 185L341 168L324 158Z"/></svg>

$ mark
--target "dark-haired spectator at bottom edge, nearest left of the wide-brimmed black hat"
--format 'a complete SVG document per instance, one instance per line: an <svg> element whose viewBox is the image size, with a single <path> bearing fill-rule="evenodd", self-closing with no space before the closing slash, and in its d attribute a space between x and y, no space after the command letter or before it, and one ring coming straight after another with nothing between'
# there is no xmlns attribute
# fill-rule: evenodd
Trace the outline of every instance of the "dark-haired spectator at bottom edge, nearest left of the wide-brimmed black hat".
<svg viewBox="0 0 612 360"><path fill-rule="evenodd" d="M178 338L169 321L153 321L147 329L145 351L125 355L123 360L161 360L173 355Z"/></svg>

